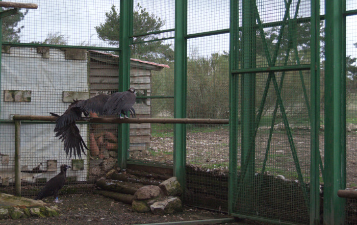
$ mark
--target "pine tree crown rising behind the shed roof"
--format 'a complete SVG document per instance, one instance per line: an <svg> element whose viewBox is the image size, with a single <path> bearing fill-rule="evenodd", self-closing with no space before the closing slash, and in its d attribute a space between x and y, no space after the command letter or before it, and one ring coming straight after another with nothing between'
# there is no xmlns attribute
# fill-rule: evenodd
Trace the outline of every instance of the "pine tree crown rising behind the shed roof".
<svg viewBox="0 0 357 225"><path fill-rule="evenodd" d="M100 23L95 30L101 40L108 41L111 45L119 45L119 13L115 6L112 6L110 12L106 13L106 22ZM133 13L133 30L135 34L159 31L165 24L165 20L154 14L149 14L145 8L138 4ZM159 35L146 35L133 38L133 43L156 40ZM174 53L171 44L164 44L163 41L153 41L148 43L133 44L131 53L134 58L139 59L158 59L164 58L173 60Z"/></svg>

